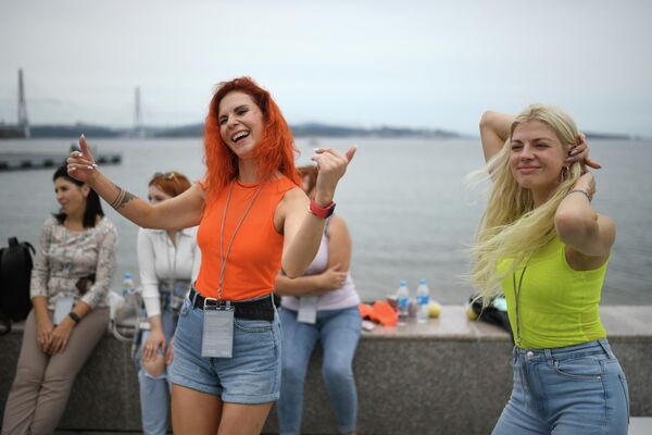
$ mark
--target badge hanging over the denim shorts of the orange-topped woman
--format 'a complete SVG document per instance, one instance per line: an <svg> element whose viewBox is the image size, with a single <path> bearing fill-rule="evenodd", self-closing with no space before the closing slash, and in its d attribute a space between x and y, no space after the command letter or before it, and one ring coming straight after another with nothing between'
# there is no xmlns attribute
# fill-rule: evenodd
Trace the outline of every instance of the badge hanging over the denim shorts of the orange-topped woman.
<svg viewBox="0 0 652 435"><path fill-rule="evenodd" d="M210 300L210 299L209 299ZM201 338L201 356L231 358L234 353L234 314L230 302L225 306L204 304L204 322Z"/></svg>

